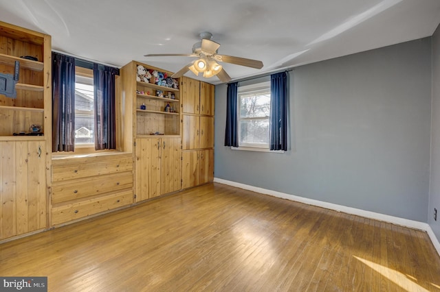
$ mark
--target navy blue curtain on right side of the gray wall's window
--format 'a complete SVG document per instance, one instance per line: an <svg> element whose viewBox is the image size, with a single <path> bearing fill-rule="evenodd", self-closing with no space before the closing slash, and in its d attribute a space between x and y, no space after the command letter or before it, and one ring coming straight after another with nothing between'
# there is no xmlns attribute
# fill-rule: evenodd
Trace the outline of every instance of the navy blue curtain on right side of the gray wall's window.
<svg viewBox="0 0 440 292"><path fill-rule="evenodd" d="M270 75L270 150L287 151L287 73Z"/></svg>

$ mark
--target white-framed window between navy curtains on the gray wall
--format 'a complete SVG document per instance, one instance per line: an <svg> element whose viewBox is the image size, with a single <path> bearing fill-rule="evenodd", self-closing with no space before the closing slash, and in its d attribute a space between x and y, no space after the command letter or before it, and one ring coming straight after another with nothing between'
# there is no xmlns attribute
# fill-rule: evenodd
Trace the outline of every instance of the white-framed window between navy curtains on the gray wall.
<svg viewBox="0 0 440 292"><path fill-rule="evenodd" d="M269 149L270 82L238 88L239 147Z"/></svg>

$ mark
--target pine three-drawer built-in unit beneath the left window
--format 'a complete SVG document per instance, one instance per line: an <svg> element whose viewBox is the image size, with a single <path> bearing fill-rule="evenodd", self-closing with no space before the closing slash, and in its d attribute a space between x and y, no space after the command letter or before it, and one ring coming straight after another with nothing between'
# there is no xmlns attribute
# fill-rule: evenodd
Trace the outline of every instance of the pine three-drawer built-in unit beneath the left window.
<svg viewBox="0 0 440 292"><path fill-rule="evenodd" d="M54 159L51 203L51 226L132 204L132 154Z"/></svg>

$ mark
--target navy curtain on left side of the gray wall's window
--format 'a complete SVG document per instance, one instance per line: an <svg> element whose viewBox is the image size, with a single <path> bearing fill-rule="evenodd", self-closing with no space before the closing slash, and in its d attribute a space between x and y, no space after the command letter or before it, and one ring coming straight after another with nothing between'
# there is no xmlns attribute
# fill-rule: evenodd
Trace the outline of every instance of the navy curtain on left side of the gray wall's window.
<svg viewBox="0 0 440 292"><path fill-rule="evenodd" d="M238 82L228 84L228 95L226 96L226 129L225 146L239 147L237 134L237 104L236 92Z"/></svg>

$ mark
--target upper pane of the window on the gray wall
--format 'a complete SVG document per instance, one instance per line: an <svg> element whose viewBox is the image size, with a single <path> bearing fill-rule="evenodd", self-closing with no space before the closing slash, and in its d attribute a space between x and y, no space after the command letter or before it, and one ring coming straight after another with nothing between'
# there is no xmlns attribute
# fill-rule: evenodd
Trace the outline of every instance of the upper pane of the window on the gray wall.
<svg viewBox="0 0 440 292"><path fill-rule="evenodd" d="M257 95L240 95L240 117L269 117L270 92Z"/></svg>

